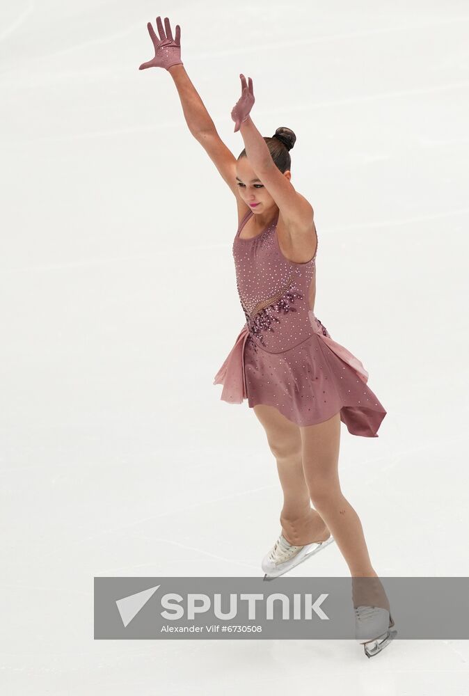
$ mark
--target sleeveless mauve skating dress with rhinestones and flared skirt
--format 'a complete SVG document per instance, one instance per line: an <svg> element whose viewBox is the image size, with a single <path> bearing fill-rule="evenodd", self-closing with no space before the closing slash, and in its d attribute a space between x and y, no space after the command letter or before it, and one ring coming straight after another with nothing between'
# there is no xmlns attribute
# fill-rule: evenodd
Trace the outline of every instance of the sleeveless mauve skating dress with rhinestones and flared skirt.
<svg viewBox="0 0 469 696"><path fill-rule="evenodd" d="M287 260L278 244L278 214L259 235L241 239L249 210L233 242L246 324L214 378L223 384L221 400L273 406L300 427L340 411L352 435L378 437L386 411L367 386L365 367L313 311L317 250L308 262Z"/></svg>

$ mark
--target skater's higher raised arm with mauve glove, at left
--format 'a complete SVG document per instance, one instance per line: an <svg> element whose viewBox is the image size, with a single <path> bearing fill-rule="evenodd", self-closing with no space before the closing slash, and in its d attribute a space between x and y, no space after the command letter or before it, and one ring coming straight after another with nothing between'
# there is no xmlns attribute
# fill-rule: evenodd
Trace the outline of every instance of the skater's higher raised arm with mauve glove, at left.
<svg viewBox="0 0 469 696"><path fill-rule="evenodd" d="M182 63L180 26L179 24L176 25L175 38L173 39L168 17L164 18L164 24L166 33L161 17L157 17L158 38L154 33L152 24L148 22L147 28L154 46L154 58L147 63L142 63L139 70L145 70L145 68L165 68L170 73L181 100L182 111L189 131L202 145L223 177L223 180L228 184L232 193L235 194L238 209L241 209L241 212L245 212L244 209L247 210L248 207L239 196L236 182L235 155L227 148L218 135L215 124L200 99L196 88L189 79L184 63Z"/></svg>

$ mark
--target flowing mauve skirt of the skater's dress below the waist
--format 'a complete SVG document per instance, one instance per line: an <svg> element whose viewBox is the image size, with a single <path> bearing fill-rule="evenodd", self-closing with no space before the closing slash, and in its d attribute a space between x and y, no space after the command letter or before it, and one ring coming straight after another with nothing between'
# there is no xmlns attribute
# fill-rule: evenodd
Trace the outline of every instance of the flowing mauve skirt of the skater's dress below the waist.
<svg viewBox="0 0 469 696"><path fill-rule="evenodd" d="M221 400L273 406L300 427L340 411L349 433L378 437L386 411L367 386L367 370L331 338L312 310L308 316L312 335L279 353L255 345L246 322L214 378L214 384L223 384Z"/></svg>

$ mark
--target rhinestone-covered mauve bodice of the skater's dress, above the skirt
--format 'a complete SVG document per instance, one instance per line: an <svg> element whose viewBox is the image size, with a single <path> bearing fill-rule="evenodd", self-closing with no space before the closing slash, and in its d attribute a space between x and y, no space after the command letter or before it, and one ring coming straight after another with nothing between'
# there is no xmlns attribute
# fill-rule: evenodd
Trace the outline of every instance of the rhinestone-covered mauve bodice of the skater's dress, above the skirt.
<svg viewBox="0 0 469 696"><path fill-rule="evenodd" d="M280 251L277 221L260 235L241 239L241 221L233 242L233 258L241 307L253 344L269 353L280 353L309 338L310 288L315 283L316 253L306 263L289 261Z"/></svg>

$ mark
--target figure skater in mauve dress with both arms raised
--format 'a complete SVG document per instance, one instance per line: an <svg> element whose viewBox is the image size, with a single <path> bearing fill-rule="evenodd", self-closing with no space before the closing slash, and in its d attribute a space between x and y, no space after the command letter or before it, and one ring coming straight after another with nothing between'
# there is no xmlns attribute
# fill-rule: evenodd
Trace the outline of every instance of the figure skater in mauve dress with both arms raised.
<svg viewBox="0 0 469 696"><path fill-rule="evenodd" d="M253 81L241 74L241 97L232 109L244 140L238 159L218 136L212 118L181 61L165 17L159 38L147 24L154 58L175 82L191 134L212 159L236 198L233 242L237 288L246 324L214 384L221 399L248 400L276 459L284 503L280 535L262 561L264 579L281 576L335 541L352 578L356 638L372 656L394 638L390 606L369 558L356 511L338 476L340 423L349 432L377 437L386 411L367 386L368 373L335 342L315 316L317 230L312 206L291 182L292 130L264 138L250 112ZM310 503L314 505L312 509Z"/></svg>

